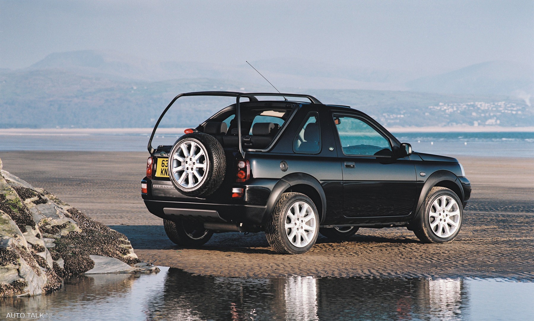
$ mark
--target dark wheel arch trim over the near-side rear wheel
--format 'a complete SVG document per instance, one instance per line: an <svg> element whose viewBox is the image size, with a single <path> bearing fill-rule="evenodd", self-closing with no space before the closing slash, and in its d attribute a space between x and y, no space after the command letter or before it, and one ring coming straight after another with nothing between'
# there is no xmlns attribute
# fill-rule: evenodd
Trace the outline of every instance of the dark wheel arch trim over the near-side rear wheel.
<svg viewBox="0 0 534 321"><path fill-rule="evenodd" d="M317 179L309 174L305 173L291 173L278 181L269 196L266 207L266 215L264 221L269 220L272 215L272 211L278 199L283 193L297 192L307 195L317 207L319 211L319 222L322 223L326 217L326 195L323 190L323 186L317 181Z"/></svg>

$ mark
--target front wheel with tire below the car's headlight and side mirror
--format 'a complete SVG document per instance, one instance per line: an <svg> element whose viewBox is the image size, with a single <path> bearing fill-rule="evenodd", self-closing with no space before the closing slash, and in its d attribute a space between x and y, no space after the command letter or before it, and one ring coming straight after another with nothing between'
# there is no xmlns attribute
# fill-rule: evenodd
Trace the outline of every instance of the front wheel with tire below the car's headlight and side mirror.
<svg viewBox="0 0 534 321"><path fill-rule="evenodd" d="M445 187L433 187L425 199L415 236L423 243L450 242L460 232L463 218L458 195Z"/></svg>

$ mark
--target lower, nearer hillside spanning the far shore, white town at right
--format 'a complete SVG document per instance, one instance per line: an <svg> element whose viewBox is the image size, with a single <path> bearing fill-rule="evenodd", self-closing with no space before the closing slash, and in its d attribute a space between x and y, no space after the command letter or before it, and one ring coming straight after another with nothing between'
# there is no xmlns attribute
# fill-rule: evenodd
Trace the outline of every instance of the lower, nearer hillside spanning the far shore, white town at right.
<svg viewBox="0 0 534 321"><path fill-rule="evenodd" d="M152 127L163 108L180 92L244 91L241 86L242 83L215 79L119 81L59 69L15 71L0 74L0 127ZM246 91L272 90L256 86L247 87ZM386 126L441 127L473 125L474 122L486 124L488 121L488 124L500 126L534 124L533 108L528 107L524 100L507 96L381 90L287 91L310 93L326 104L350 105ZM490 105L468 105L480 101ZM502 110L500 105L494 105L500 101L506 102ZM163 126L195 126L218 109L232 104L233 99L185 98L179 102L169 111Z"/></svg>

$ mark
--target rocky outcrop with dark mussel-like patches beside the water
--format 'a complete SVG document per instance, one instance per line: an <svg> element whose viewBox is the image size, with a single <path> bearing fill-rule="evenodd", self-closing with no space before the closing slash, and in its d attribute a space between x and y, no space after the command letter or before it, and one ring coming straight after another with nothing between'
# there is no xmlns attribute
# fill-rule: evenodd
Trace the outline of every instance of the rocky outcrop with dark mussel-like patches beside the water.
<svg viewBox="0 0 534 321"><path fill-rule="evenodd" d="M0 174L0 297L52 292L68 275L158 271L124 234L2 170L2 160Z"/></svg>

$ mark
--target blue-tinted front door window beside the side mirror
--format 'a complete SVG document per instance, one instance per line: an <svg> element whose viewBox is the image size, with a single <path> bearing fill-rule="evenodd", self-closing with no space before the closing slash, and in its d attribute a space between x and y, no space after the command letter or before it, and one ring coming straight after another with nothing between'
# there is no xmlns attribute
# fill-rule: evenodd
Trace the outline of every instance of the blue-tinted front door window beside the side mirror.
<svg viewBox="0 0 534 321"><path fill-rule="evenodd" d="M392 155L389 140L363 120L334 115L334 123L345 155Z"/></svg>

